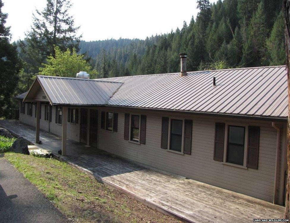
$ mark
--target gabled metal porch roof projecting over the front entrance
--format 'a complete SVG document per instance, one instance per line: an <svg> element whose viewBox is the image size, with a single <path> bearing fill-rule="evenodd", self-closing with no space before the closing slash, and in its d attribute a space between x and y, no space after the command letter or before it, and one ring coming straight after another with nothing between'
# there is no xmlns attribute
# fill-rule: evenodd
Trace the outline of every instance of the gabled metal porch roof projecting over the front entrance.
<svg viewBox="0 0 290 223"><path fill-rule="evenodd" d="M104 105L121 85L116 81L37 76L23 101L35 100L41 88L51 105Z"/></svg>

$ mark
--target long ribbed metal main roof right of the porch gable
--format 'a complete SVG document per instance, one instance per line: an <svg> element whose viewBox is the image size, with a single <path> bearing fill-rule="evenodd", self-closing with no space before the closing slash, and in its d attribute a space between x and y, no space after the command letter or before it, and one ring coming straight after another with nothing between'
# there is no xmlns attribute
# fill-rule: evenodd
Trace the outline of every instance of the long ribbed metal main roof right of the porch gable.
<svg viewBox="0 0 290 223"><path fill-rule="evenodd" d="M286 119L285 66L106 78L123 85L108 106ZM216 86L213 86L213 77ZM100 79L99 79L100 80Z"/></svg>

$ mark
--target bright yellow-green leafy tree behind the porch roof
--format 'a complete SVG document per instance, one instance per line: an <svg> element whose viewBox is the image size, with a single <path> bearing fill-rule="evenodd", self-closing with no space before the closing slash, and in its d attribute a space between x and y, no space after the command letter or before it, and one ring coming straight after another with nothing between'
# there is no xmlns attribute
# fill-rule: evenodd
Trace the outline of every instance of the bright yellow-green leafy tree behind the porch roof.
<svg viewBox="0 0 290 223"><path fill-rule="evenodd" d="M97 78L97 71L92 70L92 67L83 59L84 55L78 55L74 48L72 52L70 49L62 52L58 46L54 50L55 56L48 56L47 63L39 68L39 75L75 77L78 72L86 71L91 79Z"/></svg>

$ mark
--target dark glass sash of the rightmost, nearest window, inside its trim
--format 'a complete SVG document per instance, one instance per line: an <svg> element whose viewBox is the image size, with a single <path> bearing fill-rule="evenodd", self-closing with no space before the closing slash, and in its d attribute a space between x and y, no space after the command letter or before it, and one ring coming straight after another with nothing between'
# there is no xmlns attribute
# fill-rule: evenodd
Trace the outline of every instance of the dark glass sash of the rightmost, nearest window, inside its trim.
<svg viewBox="0 0 290 223"><path fill-rule="evenodd" d="M226 161L233 164L244 164L245 127L228 126Z"/></svg>

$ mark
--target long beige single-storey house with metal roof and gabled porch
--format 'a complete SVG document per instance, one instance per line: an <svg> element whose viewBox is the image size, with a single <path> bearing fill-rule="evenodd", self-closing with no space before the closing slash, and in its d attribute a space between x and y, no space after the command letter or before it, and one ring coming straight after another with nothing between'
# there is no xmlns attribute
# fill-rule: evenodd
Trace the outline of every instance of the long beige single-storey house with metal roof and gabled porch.
<svg viewBox="0 0 290 223"><path fill-rule="evenodd" d="M285 66L106 79L37 76L20 120L176 175L283 205Z"/></svg>

